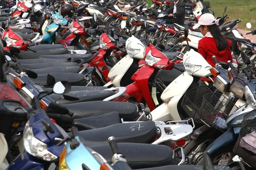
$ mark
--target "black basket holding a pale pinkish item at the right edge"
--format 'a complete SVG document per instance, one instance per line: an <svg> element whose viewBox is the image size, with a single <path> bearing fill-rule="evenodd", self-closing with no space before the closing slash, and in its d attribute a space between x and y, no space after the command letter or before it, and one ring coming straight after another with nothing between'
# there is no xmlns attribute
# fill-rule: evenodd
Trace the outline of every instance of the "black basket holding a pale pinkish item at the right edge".
<svg viewBox="0 0 256 170"><path fill-rule="evenodd" d="M246 164L256 168L256 121L249 122L241 128L239 138L233 148L233 153L238 155Z"/></svg>

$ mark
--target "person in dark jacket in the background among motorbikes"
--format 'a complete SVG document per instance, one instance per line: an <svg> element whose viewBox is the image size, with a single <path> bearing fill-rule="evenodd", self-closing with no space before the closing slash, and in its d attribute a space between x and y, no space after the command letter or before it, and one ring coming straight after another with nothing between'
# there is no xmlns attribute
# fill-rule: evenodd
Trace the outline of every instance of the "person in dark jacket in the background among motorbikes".
<svg viewBox="0 0 256 170"><path fill-rule="evenodd" d="M169 18L166 19L166 23L168 24L177 23L181 26L184 25L185 4L182 2L182 0L174 0L174 3L170 4L166 13L169 14Z"/></svg>

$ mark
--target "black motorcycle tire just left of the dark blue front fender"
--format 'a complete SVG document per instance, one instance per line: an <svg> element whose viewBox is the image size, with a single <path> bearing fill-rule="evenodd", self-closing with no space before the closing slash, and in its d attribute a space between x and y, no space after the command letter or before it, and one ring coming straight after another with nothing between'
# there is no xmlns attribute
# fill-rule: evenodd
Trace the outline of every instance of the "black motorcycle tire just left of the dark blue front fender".
<svg viewBox="0 0 256 170"><path fill-rule="evenodd" d="M190 141L184 147L184 154L185 154L185 156L189 156L192 152L195 152L195 150L198 148L198 146L200 144L203 144L206 141L212 141L213 142L217 138L218 138L218 136L203 136L203 137L201 137L199 139L195 139L195 140ZM195 153L198 153L198 151L196 151ZM201 153L204 153L204 150L201 151ZM199 156L203 156L203 154L200 154ZM190 157L189 158L190 159L190 163L196 165L198 163L198 157L196 157L196 155Z"/></svg>

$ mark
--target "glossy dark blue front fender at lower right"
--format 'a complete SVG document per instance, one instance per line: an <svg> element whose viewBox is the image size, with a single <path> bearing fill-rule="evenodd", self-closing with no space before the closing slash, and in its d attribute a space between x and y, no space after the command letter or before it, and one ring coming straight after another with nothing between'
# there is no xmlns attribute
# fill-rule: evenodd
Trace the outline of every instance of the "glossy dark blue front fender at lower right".
<svg viewBox="0 0 256 170"><path fill-rule="evenodd" d="M219 136L214 142L212 142L212 144L210 144L205 151L212 156L223 153L225 150L232 150L238 139L238 134L239 133L234 132L233 128L230 128Z"/></svg>

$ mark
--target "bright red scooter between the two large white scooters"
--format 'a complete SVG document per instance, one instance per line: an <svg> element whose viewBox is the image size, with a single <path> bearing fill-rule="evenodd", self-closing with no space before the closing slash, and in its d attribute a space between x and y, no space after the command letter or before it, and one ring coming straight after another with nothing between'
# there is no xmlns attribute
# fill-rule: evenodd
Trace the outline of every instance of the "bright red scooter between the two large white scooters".
<svg viewBox="0 0 256 170"><path fill-rule="evenodd" d="M156 89L160 91L164 90L164 86L162 85L163 83L155 79L157 72L160 69L172 70L173 68L183 71L183 69L180 69L174 65L182 60L168 59L163 53L149 43L145 48L144 59L145 63L140 63L142 66L131 77L134 82L126 86L125 93L129 94L130 98L135 98L139 103L145 100L149 109L153 111L157 105L156 94L158 92ZM152 97L151 94L154 96Z"/></svg>

